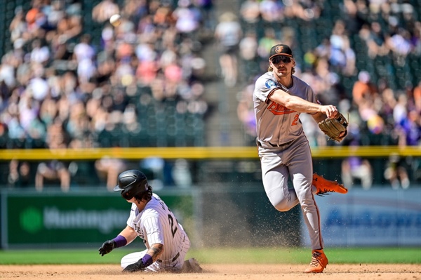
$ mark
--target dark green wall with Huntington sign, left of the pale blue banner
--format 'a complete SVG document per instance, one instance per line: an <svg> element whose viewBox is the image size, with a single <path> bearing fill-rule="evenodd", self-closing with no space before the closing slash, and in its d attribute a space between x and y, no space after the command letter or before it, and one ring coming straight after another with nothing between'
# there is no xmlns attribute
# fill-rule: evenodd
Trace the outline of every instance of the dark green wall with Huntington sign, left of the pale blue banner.
<svg viewBox="0 0 421 280"><path fill-rule="evenodd" d="M170 189L166 201L192 247L299 246L300 209L279 213L262 187ZM1 192L2 248L91 248L114 238L131 205L118 193L84 191Z"/></svg>

